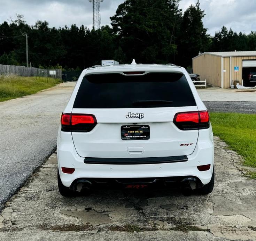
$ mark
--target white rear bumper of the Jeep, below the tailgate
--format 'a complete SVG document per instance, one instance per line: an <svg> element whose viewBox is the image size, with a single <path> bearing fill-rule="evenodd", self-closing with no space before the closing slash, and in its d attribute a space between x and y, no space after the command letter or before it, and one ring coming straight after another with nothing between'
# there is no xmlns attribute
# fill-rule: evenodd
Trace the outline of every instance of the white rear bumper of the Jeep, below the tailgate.
<svg viewBox="0 0 256 241"><path fill-rule="evenodd" d="M199 133L196 148L191 155L187 155L187 161L157 164L88 164L84 163L85 158L80 157L70 140L65 137L61 142L58 135L57 156L60 177L63 185L69 187L73 181L79 178L150 178L150 177L184 177L194 176L202 184L210 182L214 164L214 144L212 136L209 136L209 129ZM137 158L138 160L141 157ZM200 172L199 165L211 164L208 171ZM75 168L73 174L65 174L61 167Z"/></svg>

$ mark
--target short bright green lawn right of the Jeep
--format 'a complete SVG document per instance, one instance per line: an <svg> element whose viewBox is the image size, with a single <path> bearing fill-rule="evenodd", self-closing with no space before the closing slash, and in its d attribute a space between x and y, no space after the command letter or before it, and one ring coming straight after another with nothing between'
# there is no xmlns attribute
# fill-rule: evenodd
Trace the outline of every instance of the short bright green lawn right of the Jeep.
<svg viewBox="0 0 256 241"><path fill-rule="evenodd" d="M210 113L210 119L214 135L243 156L244 165L256 167L256 115ZM250 173L250 177L256 178L256 173Z"/></svg>

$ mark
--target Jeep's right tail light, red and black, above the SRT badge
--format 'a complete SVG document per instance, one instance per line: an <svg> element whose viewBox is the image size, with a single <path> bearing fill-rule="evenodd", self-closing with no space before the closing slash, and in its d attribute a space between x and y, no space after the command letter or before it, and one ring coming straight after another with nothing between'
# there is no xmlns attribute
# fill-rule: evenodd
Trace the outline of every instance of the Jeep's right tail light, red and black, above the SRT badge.
<svg viewBox="0 0 256 241"><path fill-rule="evenodd" d="M210 116L207 110L177 113L173 123L180 130L206 129L210 127Z"/></svg>

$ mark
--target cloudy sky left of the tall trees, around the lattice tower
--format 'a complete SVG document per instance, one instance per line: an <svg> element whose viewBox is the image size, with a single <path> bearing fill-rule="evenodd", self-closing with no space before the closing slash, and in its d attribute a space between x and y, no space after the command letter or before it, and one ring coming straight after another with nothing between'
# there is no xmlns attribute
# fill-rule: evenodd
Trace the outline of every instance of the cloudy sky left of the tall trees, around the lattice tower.
<svg viewBox="0 0 256 241"><path fill-rule="evenodd" d="M104 0L101 3L101 23L110 24L110 16L123 0ZM0 0L0 23L13 18L16 13L24 15L29 25L37 20L47 20L49 26L63 27L71 24L85 25L92 28L92 3L88 0Z"/></svg>

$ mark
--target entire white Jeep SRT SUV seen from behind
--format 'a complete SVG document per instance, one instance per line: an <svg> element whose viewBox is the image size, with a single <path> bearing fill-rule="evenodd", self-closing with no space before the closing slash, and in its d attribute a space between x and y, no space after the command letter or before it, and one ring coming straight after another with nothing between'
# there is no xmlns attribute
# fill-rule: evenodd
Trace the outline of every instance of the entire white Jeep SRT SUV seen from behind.
<svg viewBox="0 0 256 241"><path fill-rule="evenodd" d="M96 186L214 186L209 114L187 71L136 64L83 70L61 116L57 140L62 196Z"/></svg>

